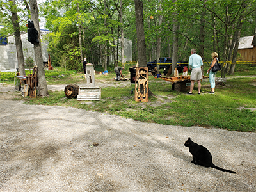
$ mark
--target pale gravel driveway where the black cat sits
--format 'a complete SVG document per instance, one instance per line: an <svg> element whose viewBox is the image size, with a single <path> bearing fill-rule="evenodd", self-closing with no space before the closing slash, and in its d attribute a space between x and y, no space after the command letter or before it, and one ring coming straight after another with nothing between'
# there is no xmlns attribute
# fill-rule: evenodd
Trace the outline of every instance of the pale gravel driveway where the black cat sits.
<svg viewBox="0 0 256 192"><path fill-rule="evenodd" d="M0 191L256 191L256 134L25 105L0 86ZM207 147L237 174L190 163Z"/></svg>

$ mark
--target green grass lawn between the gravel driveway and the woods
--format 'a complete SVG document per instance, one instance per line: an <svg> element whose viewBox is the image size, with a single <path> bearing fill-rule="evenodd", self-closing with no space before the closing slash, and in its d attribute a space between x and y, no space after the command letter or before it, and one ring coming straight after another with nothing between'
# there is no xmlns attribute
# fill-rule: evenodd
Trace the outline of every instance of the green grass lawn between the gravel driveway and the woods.
<svg viewBox="0 0 256 192"><path fill-rule="evenodd" d="M256 111L248 109L256 108L256 78L246 77L244 71L236 73L237 76L244 77L228 78L225 86L216 86L215 95L207 94L211 88L208 79L204 79L202 94L196 94L197 84L195 84L193 96L172 91L172 83L150 76L149 88L156 96L150 97L148 103L135 102L134 95L131 94L131 84L120 88L118 83L116 87L102 88L100 101L81 102L76 99L67 99L63 91L49 91L49 97L30 99L17 96L16 99L25 100L27 104L72 106L120 115L141 122L256 132ZM124 74L129 77L128 68L125 68ZM256 70L250 70L250 75L256 75ZM69 72L67 76L60 78L47 76L47 84L76 84L83 79L81 76L84 74L77 72ZM108 83L113 77L115 73L111 72L108 76L96 75L95 80ZM220 77L220 74L217 77Z"/></svg>

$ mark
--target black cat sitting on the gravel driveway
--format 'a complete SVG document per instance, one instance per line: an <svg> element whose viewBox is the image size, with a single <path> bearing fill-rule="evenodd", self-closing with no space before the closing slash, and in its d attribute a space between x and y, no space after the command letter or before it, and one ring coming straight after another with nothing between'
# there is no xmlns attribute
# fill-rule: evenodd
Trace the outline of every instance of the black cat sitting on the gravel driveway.
<svg viewBox="0 0 256 192"><path fill-rule="evenodd" d="M216 168L217 170L221 170L222 172L229 172L229 173L236 174L236 172L225 170L223 168L215 166L212 163L212 155L209 152L209 150L202 145L198 145L197 143L194 143L190 138L188 138L188 140L185 142L184 145L189 148L189 152L193 156L193 161L191 161L191 163L199 164L205 167Z"/></svg>

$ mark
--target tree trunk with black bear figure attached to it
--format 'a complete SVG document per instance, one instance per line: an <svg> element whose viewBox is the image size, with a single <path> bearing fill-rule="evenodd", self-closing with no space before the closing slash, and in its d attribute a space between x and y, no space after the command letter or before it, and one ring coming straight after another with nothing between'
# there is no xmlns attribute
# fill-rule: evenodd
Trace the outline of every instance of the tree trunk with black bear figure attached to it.
<svg viewBox="0 0 256 192"><path fill-rule="evenodd" d="M48 95L48 88L44 74L44 63L42 57L42 47L41 47L41 38L40 38L40 28L39 28L39 20L38 20L38 6L36 0L30 0L30 10L31 10L31 20L34 22L35 28L38 31L38 41L39 43L34 44L35 51L35 61L38 67L38 91L40 96Z"/></svg>

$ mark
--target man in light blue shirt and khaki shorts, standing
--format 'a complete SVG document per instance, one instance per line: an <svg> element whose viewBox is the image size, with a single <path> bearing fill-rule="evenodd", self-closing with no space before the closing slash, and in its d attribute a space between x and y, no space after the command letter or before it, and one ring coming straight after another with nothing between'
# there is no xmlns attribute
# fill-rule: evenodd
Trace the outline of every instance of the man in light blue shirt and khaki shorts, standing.
<svg viewBox="0 0 256 192"><path fill-rule="evenodd" d="M190 90L187 95L192 95L192 91L194 88L195 81L197 81L198 84L198 95L201 94L201 82L200 79L203 78L202 76L202 70L201 67L203 65L203 60L200 55L196 54L196 49L191 49L191 56L189 56L189 62L188 62L189 68L192 69L191 75L190 75Z"/></svg>

